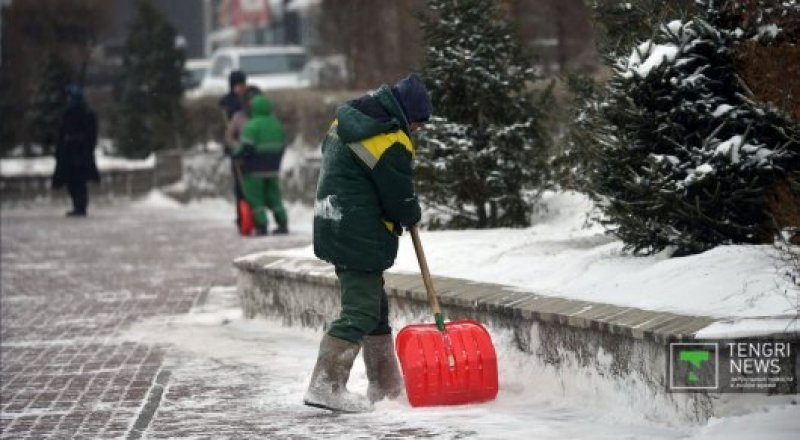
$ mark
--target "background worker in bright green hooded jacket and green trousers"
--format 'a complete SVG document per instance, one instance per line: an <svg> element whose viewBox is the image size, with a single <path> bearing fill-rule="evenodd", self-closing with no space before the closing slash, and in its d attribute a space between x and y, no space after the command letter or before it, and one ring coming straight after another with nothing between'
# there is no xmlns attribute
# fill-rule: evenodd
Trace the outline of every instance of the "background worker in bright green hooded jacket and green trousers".
<svg viewBox="0 0 800 440"><path fill-rule="evenodd" d="M242 192L253 211L256 235L266 235L272 211L278 227L273 234L288 234L289 219L280 189L280 164L286 148L283 124L272 115L272 103L264 95L250 100L250 119L232 155L240 159Z"/></svg>

